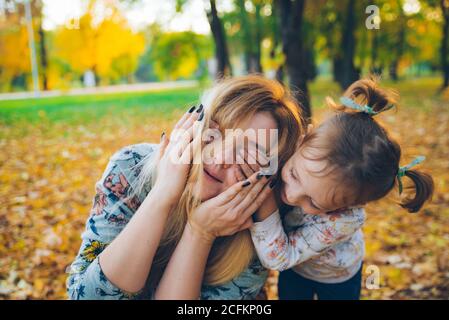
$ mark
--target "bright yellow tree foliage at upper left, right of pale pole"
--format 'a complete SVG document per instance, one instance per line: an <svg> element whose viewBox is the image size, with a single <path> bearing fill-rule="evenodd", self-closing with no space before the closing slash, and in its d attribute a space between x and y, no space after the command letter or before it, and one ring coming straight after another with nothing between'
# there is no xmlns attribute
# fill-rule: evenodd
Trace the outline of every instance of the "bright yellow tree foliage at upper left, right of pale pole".
<svg viewBox="0 0 449 320"><path fill-rule="evenodd" d="M79 74L90 70L106 82L130 81L144 52L145 39L129 28L114 2L107 4L109 15L102 21L94 23L95 1L91 0L79 20L79 29L59 29L55 55Z"/></svg>

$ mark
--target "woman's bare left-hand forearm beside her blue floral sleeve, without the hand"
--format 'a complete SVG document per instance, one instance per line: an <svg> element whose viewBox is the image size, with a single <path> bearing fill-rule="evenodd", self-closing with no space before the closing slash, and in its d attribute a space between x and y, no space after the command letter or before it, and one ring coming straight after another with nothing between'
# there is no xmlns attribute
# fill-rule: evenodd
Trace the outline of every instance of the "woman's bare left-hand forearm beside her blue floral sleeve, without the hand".
<svg viewBox="0 0 449 320"><path fill-rule="evenodd" d="M127 292L141 290L148 277L171 204L156 189L150 191L126 227L100 254L108 280Z"/></svg>

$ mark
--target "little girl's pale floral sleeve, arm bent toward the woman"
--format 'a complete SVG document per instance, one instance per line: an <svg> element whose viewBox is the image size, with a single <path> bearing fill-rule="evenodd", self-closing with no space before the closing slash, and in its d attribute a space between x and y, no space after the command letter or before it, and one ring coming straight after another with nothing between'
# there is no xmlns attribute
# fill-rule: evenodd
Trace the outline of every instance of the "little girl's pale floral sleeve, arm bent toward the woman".
<svg viewBox="0 0 449 320"><path fill-rule="evenodd" d="M250 231L262 265L283 271L345 241L362 227L365 219L364 209L348 210L330 215L309 215L301 226L288 234L282 226L279 211L255 223Z"/></svg>

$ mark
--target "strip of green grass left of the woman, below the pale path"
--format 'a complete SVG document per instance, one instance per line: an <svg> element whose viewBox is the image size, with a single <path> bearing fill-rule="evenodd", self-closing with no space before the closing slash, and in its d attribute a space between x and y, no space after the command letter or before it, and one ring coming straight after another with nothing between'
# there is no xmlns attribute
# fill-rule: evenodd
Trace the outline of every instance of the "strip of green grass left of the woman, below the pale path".
<svg viewBox="0 0 449 320"><path fill-rule="evenodd" d="M199 88L157 92L61 96L40 99L0 101L0 124L23 122L89 123L104 116L170 114L175 109L197 103Z"/></svg>

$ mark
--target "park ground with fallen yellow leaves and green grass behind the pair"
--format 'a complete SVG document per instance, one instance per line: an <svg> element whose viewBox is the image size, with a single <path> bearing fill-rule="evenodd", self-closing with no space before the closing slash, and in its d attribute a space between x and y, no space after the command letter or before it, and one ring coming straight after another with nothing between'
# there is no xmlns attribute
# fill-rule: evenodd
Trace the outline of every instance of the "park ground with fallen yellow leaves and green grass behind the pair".
<svg viewBox="0 0 449 320"><path fill-rule="evenodd" d="M438 80L394 85L402 107L381 116L404 146L403 163L427 156L433 202L419 214L394 196L370 204L365 268L380 288L364 299L449 297L449 94ZM335 85L312 86L313 104L338 97ZM65 268L80 245L95 181L122 146L157 142L199 90L0 102L0 298L65 299ZM326 109L314 109L316 119ZM364 281L368 274L364 274ZM276 274L267 295L277 297Z"/></svg>

